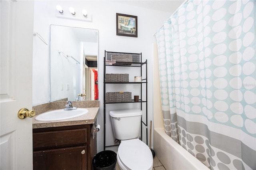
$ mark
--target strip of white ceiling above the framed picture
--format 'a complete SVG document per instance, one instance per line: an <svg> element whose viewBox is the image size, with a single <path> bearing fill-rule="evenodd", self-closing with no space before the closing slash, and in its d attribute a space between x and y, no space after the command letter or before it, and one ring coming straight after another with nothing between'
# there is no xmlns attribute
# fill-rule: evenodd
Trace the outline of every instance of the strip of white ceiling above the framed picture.
<svg viewBox="0 0 256 170"><path fill-rule="evenodd" d="M114 2L170 12L172 14L184 0L114 0Z"/></svg>

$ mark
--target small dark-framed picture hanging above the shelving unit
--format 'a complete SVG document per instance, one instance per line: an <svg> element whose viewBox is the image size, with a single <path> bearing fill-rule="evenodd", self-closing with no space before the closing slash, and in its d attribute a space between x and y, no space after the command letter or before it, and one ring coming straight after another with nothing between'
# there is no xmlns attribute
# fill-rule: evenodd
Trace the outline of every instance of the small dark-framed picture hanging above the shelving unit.
<svg viewBox="0 0 256 170"><path fill-rule="evenodd" d="M137 16L116 13L116 35L138 37Z"/></svg>

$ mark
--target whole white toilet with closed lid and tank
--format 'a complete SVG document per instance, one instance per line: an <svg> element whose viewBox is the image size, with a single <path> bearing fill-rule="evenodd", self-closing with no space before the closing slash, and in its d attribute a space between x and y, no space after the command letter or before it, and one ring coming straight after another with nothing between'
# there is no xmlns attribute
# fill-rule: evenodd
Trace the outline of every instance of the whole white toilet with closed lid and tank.
<svg viewBox="0 0 256 170"><path fill-rule="evenodd" d="M150 148L137 137L140 132L142 111L128 109L110 111L114 136L121 140L117 162L122 170L152 170L153 156Z"/></svg>

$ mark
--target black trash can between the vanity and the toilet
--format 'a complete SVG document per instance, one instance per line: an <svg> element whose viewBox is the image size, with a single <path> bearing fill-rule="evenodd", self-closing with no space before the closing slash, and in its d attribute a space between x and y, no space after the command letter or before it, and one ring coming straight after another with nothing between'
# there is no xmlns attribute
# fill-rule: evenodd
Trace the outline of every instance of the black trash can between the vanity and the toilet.
<svg viewBox="0 0 256 170"><path fill-rule="evenodd" d="M115 170L116 169L116 152L104 150L96 154L92 159L94 170Z"/></svg>

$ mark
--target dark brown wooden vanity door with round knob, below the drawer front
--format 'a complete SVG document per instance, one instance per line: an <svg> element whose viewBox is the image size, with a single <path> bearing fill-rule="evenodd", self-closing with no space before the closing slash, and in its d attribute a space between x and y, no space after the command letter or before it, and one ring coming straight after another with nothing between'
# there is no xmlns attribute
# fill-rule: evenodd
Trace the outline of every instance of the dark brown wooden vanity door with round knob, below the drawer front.
<svg viewBox="0 0 256 170"><path fill-rule="evenodd" d="M86 170L86 146L34 152L33 170Z"/></svg>

